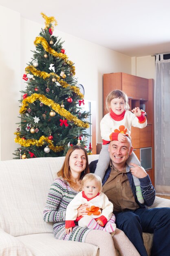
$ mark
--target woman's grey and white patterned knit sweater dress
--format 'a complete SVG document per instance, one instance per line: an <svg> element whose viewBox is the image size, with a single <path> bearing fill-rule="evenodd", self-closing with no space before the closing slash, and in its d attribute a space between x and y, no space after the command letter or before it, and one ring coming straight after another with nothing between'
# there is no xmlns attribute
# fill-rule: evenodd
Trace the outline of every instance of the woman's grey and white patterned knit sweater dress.
<svg viewBox="0 0 170 256"><path fill-rule="evenodd" d="M65 233L66 208L77 193L62 178L54 180L49 189L44 208L44 221L54 222L53 233L56 239L85 242L86 235L90 231L88 228L76 225L72 232Z"/></svg>

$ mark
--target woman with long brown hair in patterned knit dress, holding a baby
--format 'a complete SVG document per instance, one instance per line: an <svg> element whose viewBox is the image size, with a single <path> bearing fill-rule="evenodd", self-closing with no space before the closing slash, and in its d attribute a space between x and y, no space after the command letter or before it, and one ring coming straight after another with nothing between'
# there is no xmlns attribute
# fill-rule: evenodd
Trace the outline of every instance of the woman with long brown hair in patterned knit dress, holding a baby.
<svg viewBox="0 0 170 256"><path fill-rule="evenodd" d="M89 173L89 168L86 150L79 145L71 147L66 154L61 170L57 173L59 178L54 180L49 189L44 209L44 221L54 222L53 232L56 239L96 245L99 247L100 256L116 256L115 247L121 255L139 256L124 232L119 229L116 229L113 238L108 232L79 227L78 225L73 227L72 232L66 234L66 207L80 191L81 180L87 173ZM84 209L87 206L88 204L84 204L78 208L77 217L87 214Z"/></svg>

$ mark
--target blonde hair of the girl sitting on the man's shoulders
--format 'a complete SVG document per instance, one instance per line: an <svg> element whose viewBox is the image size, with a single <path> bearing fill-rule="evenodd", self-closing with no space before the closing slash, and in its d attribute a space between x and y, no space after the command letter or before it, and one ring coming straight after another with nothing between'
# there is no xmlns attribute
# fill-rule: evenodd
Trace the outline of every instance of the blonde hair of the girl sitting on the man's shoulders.
<svg viewBox="0 0 170 256"><path fill-rule="evenodd" d="M128 104L128 96L125 92L121 91L121 90L113 90L111 91L108 96L106 97L106 110L108 110L110 112L110 102L113 99L117 99L117 98L122 98L124 99L125 102L125 109L129 110L129 104Z"/></svg>

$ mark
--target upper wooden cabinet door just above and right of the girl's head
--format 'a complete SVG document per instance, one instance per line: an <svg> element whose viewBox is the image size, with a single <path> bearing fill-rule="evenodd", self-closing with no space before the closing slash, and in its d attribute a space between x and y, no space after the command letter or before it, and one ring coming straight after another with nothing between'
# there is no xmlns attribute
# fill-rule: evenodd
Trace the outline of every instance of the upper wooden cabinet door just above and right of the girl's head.
<svg viewBox="0 0 170 256"><path fill-rule="evenodd" d="M121 73L121 90L124 91L128 98L136 99L136 76Z"/></svg>

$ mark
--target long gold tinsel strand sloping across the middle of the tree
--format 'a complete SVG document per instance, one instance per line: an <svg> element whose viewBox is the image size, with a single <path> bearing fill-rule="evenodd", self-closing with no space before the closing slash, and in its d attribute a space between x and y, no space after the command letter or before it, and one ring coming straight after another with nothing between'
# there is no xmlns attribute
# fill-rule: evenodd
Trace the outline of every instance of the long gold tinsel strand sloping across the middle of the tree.
<svg viewBox="0 0 170 256"><path fill-rule="evenodd" d="M61 108L61 106L55 103L52 99L46 98L43 94L33 93L31 96L23 99L22 101L23 105L20 108L20 114L23 114L27 110L28 103L33 103L37 99L40 100L40 102L44 103L46 106L49 106L50 108L52 108L55 112L57 112L62 117L65 117L69 121L73 121L75 125L83 128L89 127L88 123L85 123L82 120L79 120L77 117L72 115L69 111L67 111L64 108Z"/></svg>

